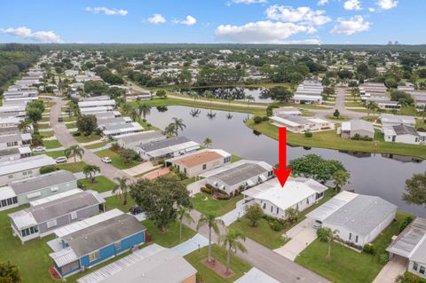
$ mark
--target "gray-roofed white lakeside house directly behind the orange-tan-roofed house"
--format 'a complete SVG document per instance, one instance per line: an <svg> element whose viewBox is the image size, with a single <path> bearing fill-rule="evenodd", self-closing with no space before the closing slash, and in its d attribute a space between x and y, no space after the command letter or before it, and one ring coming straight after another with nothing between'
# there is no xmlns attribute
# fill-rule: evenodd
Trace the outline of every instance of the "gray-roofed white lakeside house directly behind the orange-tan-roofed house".
<svg viewBox="0 0 426 283"><path fill-rule="evenodd" d="M177 157L191 153L200 148L200 145L189 138L175 137L154 141L148 144L136 145L134 150L145 161Z"/></svg>

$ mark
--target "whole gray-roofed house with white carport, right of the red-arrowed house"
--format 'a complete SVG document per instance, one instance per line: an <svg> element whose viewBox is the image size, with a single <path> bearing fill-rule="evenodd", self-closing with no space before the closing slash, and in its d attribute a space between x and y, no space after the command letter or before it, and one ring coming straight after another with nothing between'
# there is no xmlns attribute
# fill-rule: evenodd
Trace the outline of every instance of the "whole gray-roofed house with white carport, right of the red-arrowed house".
<svg viewBox="0 0 426 283"><path fill-rule="evenodd" d="M376 196L343 191L307 217L338 230L338 237L363 247L375 240L395 218L397 206Z"/></svg>

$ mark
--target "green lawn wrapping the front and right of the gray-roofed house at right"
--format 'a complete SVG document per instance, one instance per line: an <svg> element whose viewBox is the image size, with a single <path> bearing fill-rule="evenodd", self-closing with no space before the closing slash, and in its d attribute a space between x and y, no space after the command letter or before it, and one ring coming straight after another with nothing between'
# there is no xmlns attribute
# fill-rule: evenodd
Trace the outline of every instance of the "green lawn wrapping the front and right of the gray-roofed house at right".
<svg viewBox="0 0 426 283"><path fill-rule="evenodd" d="M333 282L372 282L383 268L383 265L379 263L379 256L389 246L392 236L398 234L399 225L406 216L406 213L398 211L396 221L373 242L377 249L375 255L358 253L336 243L332 247L331 259L327 259L327 243L315 240L296 257L296 263ZM348 274L351 275L348 276Z"/></svg>

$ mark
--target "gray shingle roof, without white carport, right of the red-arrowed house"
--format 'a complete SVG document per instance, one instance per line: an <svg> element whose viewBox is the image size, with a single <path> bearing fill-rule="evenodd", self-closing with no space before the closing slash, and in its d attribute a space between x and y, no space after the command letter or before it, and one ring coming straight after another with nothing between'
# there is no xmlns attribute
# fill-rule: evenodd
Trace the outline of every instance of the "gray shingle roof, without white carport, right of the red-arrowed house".
<svg viewBox="0 0 426 283"><path fill-rule="evenodd" d="M367 235L396 209L396 205L379 197L358 195L328 216L324 223L340 225L359 235Z"/></svg>

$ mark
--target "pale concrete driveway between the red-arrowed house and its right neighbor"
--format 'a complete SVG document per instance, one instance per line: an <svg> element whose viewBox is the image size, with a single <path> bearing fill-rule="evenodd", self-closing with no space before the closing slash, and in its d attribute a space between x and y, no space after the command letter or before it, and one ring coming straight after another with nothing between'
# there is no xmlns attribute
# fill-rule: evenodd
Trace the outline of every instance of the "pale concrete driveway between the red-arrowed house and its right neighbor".
<svg viewBox="0 0 426 283"><path fill-rule="evenodd" d="M312 220L304 219L304 221L291 228L287 232L287 236L291 240L283 247L276 248L273 251L294 262L296 256L308 247L313 240L317 239L317 232L312 228Z"/></svg>

